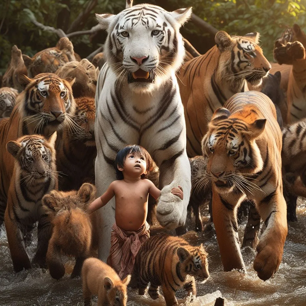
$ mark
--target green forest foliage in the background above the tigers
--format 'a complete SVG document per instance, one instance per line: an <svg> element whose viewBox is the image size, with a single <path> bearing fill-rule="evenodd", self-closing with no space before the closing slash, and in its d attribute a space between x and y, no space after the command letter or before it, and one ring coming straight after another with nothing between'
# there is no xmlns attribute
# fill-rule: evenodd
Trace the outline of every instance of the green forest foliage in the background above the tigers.
<svg viewBox="0 0 306 306"><path fill-rule="evenodd" d="M40 23L58 28L59 24L66 31L73 20L83 12L88 0L2 0L0 15L0 73L4 73L10 61L10 52L16 44L24 54L33 56L36 52L54 47L58 36L43 31L29 19L34 14ZM257 31L261 34L261 46L264 54L271 61L275 39L285 28L297 23L306 31L305 0L147 0L149 2L175 10L193 7L193 12L218 30L229 34L243 35ZM125 0L98 0L88 20L81 30L96 25L94 13L118 13L125 8ZM61 14L66 11L65 18ZM182 30L185 37L204 53L214 43L213 37L203 33L192 22ZM81 57L86 57L99 47L105 39L105 33L98 35L76 36L71 39L74 49Z"/></svg>

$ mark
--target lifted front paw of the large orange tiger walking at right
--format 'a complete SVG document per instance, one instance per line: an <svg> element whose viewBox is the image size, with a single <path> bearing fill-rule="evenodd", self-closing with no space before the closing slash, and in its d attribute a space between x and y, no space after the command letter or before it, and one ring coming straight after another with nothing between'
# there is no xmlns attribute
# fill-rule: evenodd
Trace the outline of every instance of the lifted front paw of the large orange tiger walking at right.
<svg viewBox="0 0 306 306"><path fill-rule="evenodd" d="M259 242L256 250L258 253L253 267L257 272L257 276L263 281L266 281L278 270L282 261L282 252L278 254L275 244L267 244L265 241Z"/></svg>

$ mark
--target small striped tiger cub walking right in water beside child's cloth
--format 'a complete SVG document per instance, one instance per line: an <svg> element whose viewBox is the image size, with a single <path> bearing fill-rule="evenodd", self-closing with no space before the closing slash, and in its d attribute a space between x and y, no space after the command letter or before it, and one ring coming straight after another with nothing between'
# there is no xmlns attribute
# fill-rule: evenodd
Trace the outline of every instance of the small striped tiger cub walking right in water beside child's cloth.
<svg viewBox="0 0 306 306"><path fill-rule="evenodd" d="M194 247L180 237L156 235L141 246L133 273L140 295L144 295L150 282L148 293L152 299L159 297L161 285L166 305L177 305L178 289L184 287L188 295L196 295L195 278L203 281L209 277L207 252L203 244Z"/></svg>

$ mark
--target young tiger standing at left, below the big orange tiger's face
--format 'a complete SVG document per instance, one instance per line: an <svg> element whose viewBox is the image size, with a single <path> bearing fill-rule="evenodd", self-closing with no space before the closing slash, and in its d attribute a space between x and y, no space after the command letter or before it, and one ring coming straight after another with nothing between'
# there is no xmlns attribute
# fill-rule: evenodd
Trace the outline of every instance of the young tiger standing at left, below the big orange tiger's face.
<svg viewBox="0 0 306 306"><path fill-rule="evenodd" d="M37 250L33 265L47 267L46 253L51 236L51 224L43 211L41 199L58 188L55 166L56 132L49 140L41 135L26 135L9 141L7 151L15 165L8 191L4 221L9 250L16 272L30 269L31 263L24 245L24 231L38 221Z"/></svg>

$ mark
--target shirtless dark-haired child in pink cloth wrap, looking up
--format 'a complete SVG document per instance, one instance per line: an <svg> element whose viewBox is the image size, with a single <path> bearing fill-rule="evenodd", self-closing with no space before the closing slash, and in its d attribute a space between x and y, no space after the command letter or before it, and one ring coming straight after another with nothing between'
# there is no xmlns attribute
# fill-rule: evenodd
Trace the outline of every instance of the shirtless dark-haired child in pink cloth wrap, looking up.
<svg viewBox="0 0 306 306"><path fill-rule="evenodd" d="M113 181L106 192L88 207L96 211L115 196L115 223L111 232L110 255L106 263L118 273L121 279L132 273L135 257L150 237L146 222L148 195L156 199L161 191L146 177L154 162L143 147L129 145L117 153L115 170L117 181ZM172 188L171 193L183 200L181 186Z"/></svg>

